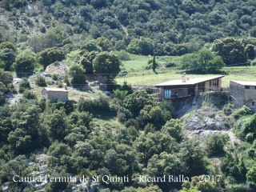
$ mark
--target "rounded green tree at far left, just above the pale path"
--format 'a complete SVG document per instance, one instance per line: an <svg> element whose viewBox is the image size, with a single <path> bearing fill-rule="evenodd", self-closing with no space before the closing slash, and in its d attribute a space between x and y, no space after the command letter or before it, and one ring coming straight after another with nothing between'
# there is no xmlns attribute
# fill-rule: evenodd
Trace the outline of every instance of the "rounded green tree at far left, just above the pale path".
<svg viewBox="0 0 256 192"><path fill-rule="evenodd" d="M23 50L17 55L14 64L14 70L18 76L26 76L34 72L36 57L31 50Z"/></svg>

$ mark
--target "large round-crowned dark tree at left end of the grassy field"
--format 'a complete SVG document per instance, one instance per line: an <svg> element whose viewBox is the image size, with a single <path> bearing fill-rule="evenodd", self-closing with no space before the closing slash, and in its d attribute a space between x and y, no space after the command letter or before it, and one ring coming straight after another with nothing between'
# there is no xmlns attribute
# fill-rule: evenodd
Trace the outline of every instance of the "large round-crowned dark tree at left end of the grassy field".
<svg viewBox="0 0 256 192"><path fill-rule="evenodd" d="M122 62L113 53L102 52L94 58L93 66L96 74L101 74L106 78L107 83L113 83L114 78L120 72Z"/></svg>

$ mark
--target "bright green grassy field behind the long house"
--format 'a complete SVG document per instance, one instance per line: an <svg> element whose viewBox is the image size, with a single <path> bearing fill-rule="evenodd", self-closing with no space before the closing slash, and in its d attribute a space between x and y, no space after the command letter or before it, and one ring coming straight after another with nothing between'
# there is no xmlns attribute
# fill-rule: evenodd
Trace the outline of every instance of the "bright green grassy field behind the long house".
<svg viewBox="0 0 256 192"><path fill-rule="evenodd" d="M182 70L175 70L174 68L163 67L158 69L158 74L154 74L152 70L145 70L149 56L132 55L130 61L123 62L124 68L128 71L128 74L124 77L116 78L118 84L122 84L124 81L129 84L136 85L156 85L160 82L166 82L175 79L181 79ZM151 57L152 58L152 57ZM158 60L164 63L166 59L175 59L174 57L159 57ZM256 66L234 66L223 68L222 86L229 86L230 80L238 81L256 81ZM188 74L189 78L202 78L207 76L214 76L216 74Z"/></svg>

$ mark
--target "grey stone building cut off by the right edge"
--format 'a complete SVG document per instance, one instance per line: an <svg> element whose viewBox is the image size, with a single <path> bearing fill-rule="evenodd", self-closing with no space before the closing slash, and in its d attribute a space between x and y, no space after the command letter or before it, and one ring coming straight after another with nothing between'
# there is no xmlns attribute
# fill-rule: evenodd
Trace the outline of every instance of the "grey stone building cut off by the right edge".
<svg viewBox="0 0 256 192"><path fill-rule="evenodd" d="M256 82L230 81L230 94L238 107L245 105L256 111Z"/></svg>

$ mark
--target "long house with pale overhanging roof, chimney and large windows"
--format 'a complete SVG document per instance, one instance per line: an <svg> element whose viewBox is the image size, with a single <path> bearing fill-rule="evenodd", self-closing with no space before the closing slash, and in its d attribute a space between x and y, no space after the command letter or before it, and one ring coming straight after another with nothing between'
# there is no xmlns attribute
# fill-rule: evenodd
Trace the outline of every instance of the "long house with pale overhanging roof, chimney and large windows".
<svg viewBox="0 0 256 192"><path fill-rule="evenodd" d="M180 80L172 80L162 82L156 87L159 90L159 98L186 98L194 96L205 91L221 91L222 78L224 75L218 75L206 78L186 78L186 74L182 75Z"/></svg>

